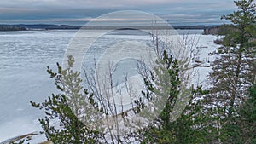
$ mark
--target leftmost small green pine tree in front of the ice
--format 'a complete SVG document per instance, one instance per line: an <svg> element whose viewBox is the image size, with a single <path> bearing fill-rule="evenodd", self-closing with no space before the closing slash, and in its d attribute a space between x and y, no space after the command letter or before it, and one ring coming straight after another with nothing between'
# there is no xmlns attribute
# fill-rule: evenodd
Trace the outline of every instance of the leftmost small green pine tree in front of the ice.
<svg viewBox="0 0 256 144"><path fill-rule="evenodd" d="M73 57L68 56L67 69L62 69L57 64L58 72L53 72L48 67L47 72L50 78L55 78L55 85L61 90L61 94L52 94L47 100L38 104L31 101L31 104L44 110L46 116L40 118L39 122L47 139L53 143L100 143L104 141L103 135L91 129L79 118L81 115L79 112L84 112L82 110L86 110L86 114L91 116L88 105L94 106L94 103L86 103L87 100L92 99L92 95L87 90L82 90L79 72L72 70L73 63Z"/></svg>

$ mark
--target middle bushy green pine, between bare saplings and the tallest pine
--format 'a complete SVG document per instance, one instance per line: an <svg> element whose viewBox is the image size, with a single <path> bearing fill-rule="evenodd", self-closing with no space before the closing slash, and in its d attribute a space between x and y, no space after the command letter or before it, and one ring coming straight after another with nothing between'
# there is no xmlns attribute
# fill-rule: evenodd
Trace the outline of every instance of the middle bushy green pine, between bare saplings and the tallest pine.
<svg viewBox="0 0 256 144"><path fill-rule="evenodd" d="M172 114L178 95L181 95L181 74L180 66L172 55L168 55L164 50L161 60L157 60L157 66L150 72L150 77L144 78L147 86L143 92L144 98L149 101L154 100L154 96L166 96L166 103L160 115L152 124L142 130L136 131L132 136L137 137L141 143L206 143L208 131L202 129L206 116L201 112L199 101L192 101L197 95L205 95L206 90L201 87L193 90L193 95L185 93L189 99L188 104L180 117L172 120ZM142 101L137 101L140 107Z"/></svg>

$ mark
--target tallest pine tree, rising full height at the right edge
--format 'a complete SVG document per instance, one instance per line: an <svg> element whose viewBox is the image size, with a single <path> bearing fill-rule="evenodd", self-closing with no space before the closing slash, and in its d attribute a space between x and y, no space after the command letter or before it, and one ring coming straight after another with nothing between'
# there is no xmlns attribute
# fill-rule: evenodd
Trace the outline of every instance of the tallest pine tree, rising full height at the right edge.
<svg viewBox="0 0 256 144"><path fill-rule="evenodd" d="M218 135L213 141L221 143L240 143L238 107L247 98L247 90L255 78L255 25L256 5L253 0L235 1L238 8L222 19L230 20L230 30L224 32L224 41L218 48L209 74L211 84L207 96L207 106L217 107L213 119L217 119ZM243 141L245 142L245 141Z"/></svg>

